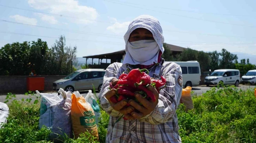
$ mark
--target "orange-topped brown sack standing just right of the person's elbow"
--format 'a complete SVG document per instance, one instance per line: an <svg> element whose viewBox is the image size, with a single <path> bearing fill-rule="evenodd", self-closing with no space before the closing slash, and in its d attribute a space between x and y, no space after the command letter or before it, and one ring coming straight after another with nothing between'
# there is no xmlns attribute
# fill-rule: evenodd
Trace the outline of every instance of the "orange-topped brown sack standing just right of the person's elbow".
<svg viewBox="0 0 256 143"><path fill-rule="evenodd" d="M187 86L185 89L182 89L181 103L184 103L184 105L186 106L186 111L194 108L193 101L191 98L191 90L192 87L190 86Z"/></svg>

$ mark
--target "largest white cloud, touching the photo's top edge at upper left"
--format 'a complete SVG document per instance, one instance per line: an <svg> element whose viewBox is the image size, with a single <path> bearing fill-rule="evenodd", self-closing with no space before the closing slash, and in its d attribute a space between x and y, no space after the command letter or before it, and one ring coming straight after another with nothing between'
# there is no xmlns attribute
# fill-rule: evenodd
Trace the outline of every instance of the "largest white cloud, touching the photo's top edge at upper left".
<svg viewBox="0 0 256 143"><path fill-rule="evenodd" d="M93 20L99 15L95 8L81 6L77 0L28 0L28 3L35 9L47 10L52 14L76 17L68 19L79 24L95 22Z"/></svg>

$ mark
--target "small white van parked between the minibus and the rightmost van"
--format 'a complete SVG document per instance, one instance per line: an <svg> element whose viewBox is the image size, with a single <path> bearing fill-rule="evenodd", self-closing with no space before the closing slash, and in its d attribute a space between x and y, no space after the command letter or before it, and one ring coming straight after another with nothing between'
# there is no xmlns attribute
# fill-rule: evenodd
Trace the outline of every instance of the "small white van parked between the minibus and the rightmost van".
<svg viewBox="0 0 256 143"><path fill-rule="evenodd" d="M240 71L232 69L215 70L205 78L206 86L218 85L221 82L224 85L234 84L238 86L240 83Z"/></svg>

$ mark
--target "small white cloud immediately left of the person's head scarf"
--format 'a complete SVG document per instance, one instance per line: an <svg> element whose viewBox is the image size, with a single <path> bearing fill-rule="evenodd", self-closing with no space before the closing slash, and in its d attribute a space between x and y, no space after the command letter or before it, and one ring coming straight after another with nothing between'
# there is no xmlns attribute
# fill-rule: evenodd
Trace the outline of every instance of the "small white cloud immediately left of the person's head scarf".
<svg viewBox="0 0 256 143"><path fill-rule="evenodd" d="M120 33L124 34L127 31L127 28L130 24L129 21L120 23L120 22L117 22L115 18L109 18L109 19L112 21L115 21L115 23L111 26L108 26L106 28L107 30L114 32L116 34L120 34Z"/></svg>

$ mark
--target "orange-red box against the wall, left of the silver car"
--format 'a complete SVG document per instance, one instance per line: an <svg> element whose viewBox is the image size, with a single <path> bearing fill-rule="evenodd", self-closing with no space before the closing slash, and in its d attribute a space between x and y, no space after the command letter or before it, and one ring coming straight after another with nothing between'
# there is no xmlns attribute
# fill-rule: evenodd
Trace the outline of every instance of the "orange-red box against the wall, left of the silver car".
<svg viewBox="0 0 256 143"><path fill-rule="evenodd" d="M28 77L27 90L29 91L43 91L44 90L44 77Z"/></svg>

